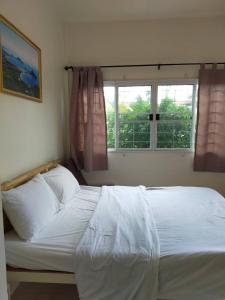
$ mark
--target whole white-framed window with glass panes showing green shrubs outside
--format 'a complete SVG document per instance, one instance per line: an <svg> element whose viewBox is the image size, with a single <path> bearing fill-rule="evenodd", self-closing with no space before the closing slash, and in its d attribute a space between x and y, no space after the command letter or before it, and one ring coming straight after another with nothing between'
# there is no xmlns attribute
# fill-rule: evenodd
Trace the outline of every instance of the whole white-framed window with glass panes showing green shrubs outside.
<svg viewBox="0 0 225 300"><path fill-rule="evenodd" d="M108 148L192 149L194 81L105 82Z"/></svg>

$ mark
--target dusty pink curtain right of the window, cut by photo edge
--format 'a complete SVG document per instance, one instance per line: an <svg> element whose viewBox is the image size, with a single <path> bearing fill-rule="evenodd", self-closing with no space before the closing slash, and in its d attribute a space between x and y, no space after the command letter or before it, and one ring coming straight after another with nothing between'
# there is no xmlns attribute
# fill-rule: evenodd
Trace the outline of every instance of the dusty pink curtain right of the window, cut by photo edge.
<svg viewBox="0 0 225 300"><path fill-rule="evenodd" d="M199 71L195 171L225 172L225 69Z"/></svg>

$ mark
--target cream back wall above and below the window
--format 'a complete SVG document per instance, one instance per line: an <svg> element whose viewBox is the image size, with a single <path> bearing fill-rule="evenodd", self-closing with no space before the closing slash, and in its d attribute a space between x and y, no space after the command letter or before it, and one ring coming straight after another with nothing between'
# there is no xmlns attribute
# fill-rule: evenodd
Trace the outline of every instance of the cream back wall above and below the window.
<svg viewBox="0 0 225 300"><path fill-rule="evenodd" d="M72 65L225 61L225 19L186 19L66 25ZM197 78L196 67L104 69L107 79ZM192 171L193 153L109 153L109 170L90 183L211 186L225 195L225 174Z"/></svg>

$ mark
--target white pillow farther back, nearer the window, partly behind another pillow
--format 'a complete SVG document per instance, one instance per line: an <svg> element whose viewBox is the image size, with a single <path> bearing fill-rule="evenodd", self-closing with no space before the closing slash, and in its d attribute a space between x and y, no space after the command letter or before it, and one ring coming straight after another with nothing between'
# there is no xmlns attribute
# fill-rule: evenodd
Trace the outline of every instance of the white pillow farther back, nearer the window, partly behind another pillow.
<svg viewBox="0 0 225 300"><path fill-rule="evenodd" d="M80 190L80 185L73 174L63 166L58 165L51 171L42 174L52 188L58 200L66 205Z"/></svg>

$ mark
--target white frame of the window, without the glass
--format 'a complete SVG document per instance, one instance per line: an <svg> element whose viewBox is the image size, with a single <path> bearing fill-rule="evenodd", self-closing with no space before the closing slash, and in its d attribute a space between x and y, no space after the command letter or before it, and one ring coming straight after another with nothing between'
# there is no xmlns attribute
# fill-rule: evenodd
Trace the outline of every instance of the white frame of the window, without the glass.
<svg viewBox="0 0 225 300"><path fill-rule="evenodd" d="M191 148L157 148L157 121L153 120L151 124L151 147L149 148L119 148L119 97L118 88L127 86L151 86L151 113L153 116L157 113L158 86L160 85L193 85L192 94L192 141ZM159 80L129 80L129 81L104 81L104 87L115 87L115 148L108 148L108 152L138 152L138 151L178 151L193 152L195 147L195 127L197 116L197 89L198 79L159 79ZM149 112L150 113L150 112Z"/></svg>

